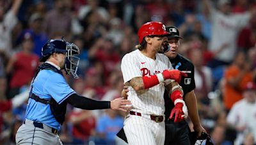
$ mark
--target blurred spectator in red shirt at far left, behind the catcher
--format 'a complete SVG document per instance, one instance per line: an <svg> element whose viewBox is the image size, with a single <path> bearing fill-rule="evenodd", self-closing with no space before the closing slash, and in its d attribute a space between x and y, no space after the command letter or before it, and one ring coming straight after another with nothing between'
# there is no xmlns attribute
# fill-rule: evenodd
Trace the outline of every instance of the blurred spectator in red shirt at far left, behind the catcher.
<svg viewBox="0 0 256 145"><path fill-rule="evenodd" d="M8 97L13 97L20 92L20 88L28 85L39 65L39 57L33 53L33 36L26 32L22 36L22 50L9 60L6 74L10 74L10 91Z"/></svg>

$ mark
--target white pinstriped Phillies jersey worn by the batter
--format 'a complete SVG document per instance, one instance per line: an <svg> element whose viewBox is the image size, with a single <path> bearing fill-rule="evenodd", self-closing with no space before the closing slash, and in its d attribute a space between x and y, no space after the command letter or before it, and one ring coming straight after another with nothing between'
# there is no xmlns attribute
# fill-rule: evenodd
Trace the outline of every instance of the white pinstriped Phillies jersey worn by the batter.
<svg viewBox="0 0 256 145"><path fill-rule="evenodd" d="M168 57L157 53L156 60L143 55L140 50L127 53L121 63L124 82L132 78L150 76L166 69L173 69ZM146 90L135 91L129 86L128 100L131 100L132 111L143 114L164 115L164 83L160 83Z"/></svg>

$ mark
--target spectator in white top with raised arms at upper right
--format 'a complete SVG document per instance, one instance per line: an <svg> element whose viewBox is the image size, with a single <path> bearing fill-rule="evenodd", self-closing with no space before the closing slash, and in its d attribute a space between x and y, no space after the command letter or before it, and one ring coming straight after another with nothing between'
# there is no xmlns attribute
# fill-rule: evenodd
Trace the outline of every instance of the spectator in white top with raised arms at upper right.
<svg viewBox="0 0 256 145"><path fill-rule="evenodd" d="M230 64L236 55L236 38L238 32L248 24L251 13L232 14L230 0L218 0L218 10L212 7L209 0L204 0L204 7L210 12L212 22L212 36L209 41L209 49L218 52L211 63L211 67ZM228 45L227 45L228 44Z"/></svg>

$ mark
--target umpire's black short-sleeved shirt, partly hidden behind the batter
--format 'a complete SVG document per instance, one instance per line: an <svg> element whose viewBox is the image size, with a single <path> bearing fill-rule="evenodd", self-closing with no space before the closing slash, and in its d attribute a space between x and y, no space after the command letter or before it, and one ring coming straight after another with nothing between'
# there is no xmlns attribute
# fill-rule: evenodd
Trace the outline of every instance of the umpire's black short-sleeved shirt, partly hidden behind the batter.
<svg viewBox="0 0 256 145"><path fill-rule="evenodd" d="M192 62L182 55L177 55L175 59L170 59L170 62L172 62L173 69L179 69L179 71L191 71L188 74L187 78L182 77L181 81L179 83L180 86L182 86L182 90L184 92L183 99L186 96L188 92L191 92L195 89L195 79L194 79L194 65ZM174 107L174 104L172 100L170 99L170 96L168 95L168 92L165 90L164 92L164 106L165 106L165 118L166 122L168 121L168 118L170 116L170 113Z"/></svg>

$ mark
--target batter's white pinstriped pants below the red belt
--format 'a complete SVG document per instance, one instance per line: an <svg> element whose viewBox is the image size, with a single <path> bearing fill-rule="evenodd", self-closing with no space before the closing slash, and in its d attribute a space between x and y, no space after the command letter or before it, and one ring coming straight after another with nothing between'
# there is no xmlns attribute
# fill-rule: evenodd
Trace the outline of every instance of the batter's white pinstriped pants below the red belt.
<svg viewBox="0 0 256 145"><path fill-rule="evenodd" d="M156 123L156 121L148 118L130 115L124 121L124 132L129 145L164 144L164 121Z"/></svg>

